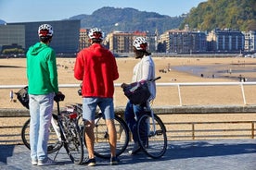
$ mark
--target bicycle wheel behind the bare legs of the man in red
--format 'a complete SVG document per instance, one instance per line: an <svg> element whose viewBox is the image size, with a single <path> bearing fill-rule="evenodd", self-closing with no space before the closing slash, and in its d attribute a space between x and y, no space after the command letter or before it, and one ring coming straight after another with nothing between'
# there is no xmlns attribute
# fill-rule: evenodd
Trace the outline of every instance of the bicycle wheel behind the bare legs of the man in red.
<svg viewBox="0 0 256 170"><path fill-rule="evenodd" d="M129 128L124 120L119 116L115 115L114 123L117 131L117 145L116 145L116 156L120 156L128 146L129 142ZM94 153L97 157L103 159L110 158L110 146L109 146L109 134L105 123L105 119L102 114L96 115L96 126L95 132L95 145ZM85 136L85 129L83 129L83 137ZM85 143L85 141L84 141ZM86 147L86 143L85 143Z"/></svg>

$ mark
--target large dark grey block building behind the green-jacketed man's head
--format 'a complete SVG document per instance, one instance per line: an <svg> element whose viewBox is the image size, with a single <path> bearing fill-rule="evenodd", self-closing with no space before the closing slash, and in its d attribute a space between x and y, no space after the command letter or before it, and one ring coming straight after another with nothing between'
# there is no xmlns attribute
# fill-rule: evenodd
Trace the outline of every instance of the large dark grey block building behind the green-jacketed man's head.
<svg viewBox="0 0 256 170"><path fill-rule="evenodd" d="M79 51L80 20L6 23L6 26L17 26L16 30L22 27L25 29L24 49L27 51L32 44L39 41L37 30L41 24L45 23L52 25L54 28L51 47L55 49L56 53L74 54Z"/></svg>

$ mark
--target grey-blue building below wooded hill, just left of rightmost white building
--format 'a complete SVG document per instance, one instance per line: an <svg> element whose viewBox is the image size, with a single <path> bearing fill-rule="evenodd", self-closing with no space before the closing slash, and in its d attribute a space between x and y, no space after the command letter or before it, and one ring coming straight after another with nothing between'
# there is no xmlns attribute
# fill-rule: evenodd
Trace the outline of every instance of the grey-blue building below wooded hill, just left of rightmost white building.
<svg viewBox="0 0 256 170"><path fill-rule="evenodd" d="M244 35L238 30L211 30L207 36L208 50L216 53L244 51Z"/></svg>

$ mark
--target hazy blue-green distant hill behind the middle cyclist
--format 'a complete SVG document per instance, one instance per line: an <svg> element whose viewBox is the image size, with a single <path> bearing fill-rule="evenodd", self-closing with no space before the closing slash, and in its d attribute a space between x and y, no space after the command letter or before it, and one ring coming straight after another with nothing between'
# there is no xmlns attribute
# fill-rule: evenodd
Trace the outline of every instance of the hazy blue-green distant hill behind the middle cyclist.
<svg viewBox="0 0 256 170"><path fill-rule="evenodd" d="M78 15L69 19L81 19L82 28L98 27L109 33L112 30L149 31L162 33L176 29L185 17L169 17L155 12L139 11L134 8L102 7L92 15Z"/></svg>

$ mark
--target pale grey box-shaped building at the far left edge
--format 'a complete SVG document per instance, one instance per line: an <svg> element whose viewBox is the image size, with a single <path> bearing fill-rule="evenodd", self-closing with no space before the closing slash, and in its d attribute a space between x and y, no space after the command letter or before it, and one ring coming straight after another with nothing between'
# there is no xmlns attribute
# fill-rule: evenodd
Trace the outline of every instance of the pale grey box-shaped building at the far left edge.
<svg viewBox="0 0 256 170"><path fill-rule="evenodd" d="M11 47L25 49L25 26L0 25L0 46L2 50Z"/></svg>

